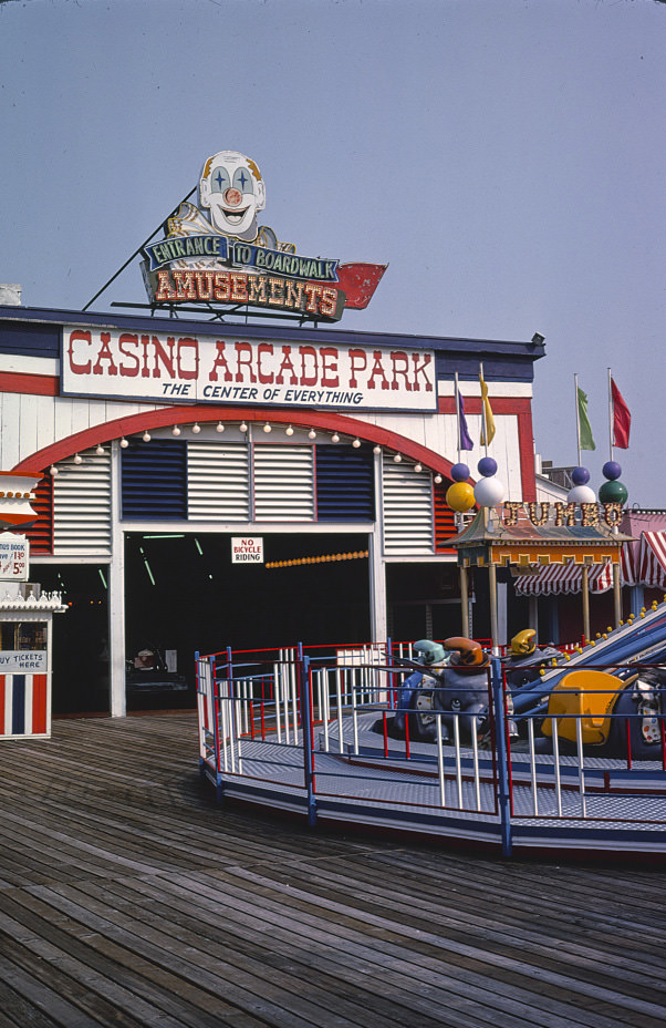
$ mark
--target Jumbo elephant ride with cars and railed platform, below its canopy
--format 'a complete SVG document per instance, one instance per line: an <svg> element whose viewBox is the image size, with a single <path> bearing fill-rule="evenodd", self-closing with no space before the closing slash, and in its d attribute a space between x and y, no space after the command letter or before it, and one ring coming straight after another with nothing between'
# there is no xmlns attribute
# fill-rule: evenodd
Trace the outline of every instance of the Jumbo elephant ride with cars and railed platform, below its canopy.
<svg viewBox="0 0 666 1028"><path fill-rule="evenodd" d="M666 857L665 604L547 664L433 646L197 656L201 773L311 825Z"/></svg>

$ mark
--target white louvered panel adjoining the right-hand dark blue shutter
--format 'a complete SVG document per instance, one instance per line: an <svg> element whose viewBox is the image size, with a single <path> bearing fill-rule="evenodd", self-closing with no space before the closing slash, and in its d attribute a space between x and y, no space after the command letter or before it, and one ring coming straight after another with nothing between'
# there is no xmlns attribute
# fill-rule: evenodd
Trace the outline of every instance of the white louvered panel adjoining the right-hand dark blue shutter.
<svg viewBox="0 0 666 1028"><path fill-rule="evenodd" d="M314 520L312 446L253 448L254 521Z"/></svg>

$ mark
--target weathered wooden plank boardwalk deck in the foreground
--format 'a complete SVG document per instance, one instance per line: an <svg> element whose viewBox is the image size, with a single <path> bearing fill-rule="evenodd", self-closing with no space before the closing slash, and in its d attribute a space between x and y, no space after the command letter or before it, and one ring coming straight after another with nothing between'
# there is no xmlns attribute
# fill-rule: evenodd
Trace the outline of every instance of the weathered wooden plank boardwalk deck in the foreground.
<svg viewBox="0 0 666 1028"><path fill-rule="evenodd" d="M0 1028L663 1028L663 872L218 808L194 713L0 743Z"/></svg>

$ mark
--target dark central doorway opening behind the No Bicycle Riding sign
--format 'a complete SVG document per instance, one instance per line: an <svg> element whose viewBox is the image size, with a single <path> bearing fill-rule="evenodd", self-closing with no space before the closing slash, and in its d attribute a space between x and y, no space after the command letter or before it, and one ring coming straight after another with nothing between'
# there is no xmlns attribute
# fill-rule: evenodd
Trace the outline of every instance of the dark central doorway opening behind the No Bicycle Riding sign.
<svg viewBox="0 0 666 1028"><path fill-rule="evenodd" d="M370 638L367 558L267 566L364 553L366 535L264 535L264 564L232 564L231 535L131 533L125 547L127 659L169 654L171 674L187 681L185 691L128 690L128 710L194 707L197 650Z"/></svg>

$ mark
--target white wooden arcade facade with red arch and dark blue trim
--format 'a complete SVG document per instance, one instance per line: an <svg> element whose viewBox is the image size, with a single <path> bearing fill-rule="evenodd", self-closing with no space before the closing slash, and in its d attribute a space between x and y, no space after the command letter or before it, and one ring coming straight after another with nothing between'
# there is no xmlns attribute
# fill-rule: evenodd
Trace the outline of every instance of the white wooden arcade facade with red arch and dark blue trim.
<svg viewBox="0 0 666 1028"><path fill-rule="evenodd" d="M100 321L100 316L95 319ZM125 319L113 320L123 323ZM148 326L160 323L157 319L143 320ZM76 321L85 326L86 318L76 315ZM72 323L71 312L49 312L49 322L55 332L60 326ZM166 331L164 326L169 322L162 325ZM114 716L125 712L124 536L128 531L158 532L165 525L158 516L129 521L123 516L122 440L138 442L146 448L146 454L160 440L187 443L187 513L178 521L179 533L266 537L295 531L302 536L334 533L341 541L345 535L366 535L371 630L375 640L386 637L388 564L455 563L455 555L444 552L436 525L436 508L439 504L441 510L441 493L450 484L448 472L460 459L452 376L438 376L437 412L399 410L398 395L396 410L381 411L270 404L169 405L103 395L65 397L60 394L61 369L53 353L53 337L49 337L42 356L37 346L17 345L17 326L19 336L23 331L30 340L35 327L41 330L43 319L40 312L0 308L0 470L52 475L52 551L33 556L33 577L39 577L39 565L91 563L107 567ZM215 328L198 322L197 330L214 332ZM289 330L296 340L300 331ZM319 335L326 341L335 337L333 331ZM363 333L346 336L367 343L368 337ZM39 342L39 336L35 338ZM285 329L280 329L280 338L288 338ZM382 349L396 345L395 337L370 337L370 343ZM465 340L428 343L436 353L474 349ZM485 345L482 353L497 430L488 453L498 463L507 498L533 498L531 378L533 360L540 354L530 345L510 346L522 367L522 373L513 379L504 373L493 380L491 342ZM476 441L476 449L462 453L462 460L474 479L476 464L486 453L478 443L478 379L462 377L460 392L469 432ZM268 426L270 431L266 431ZM373 449L372 521L318 517L315 448L322 443L340 448L356 443L366 451ZM437 484L438 477L441 485ZM169 524L173 527L174 522Z"/></svg>

